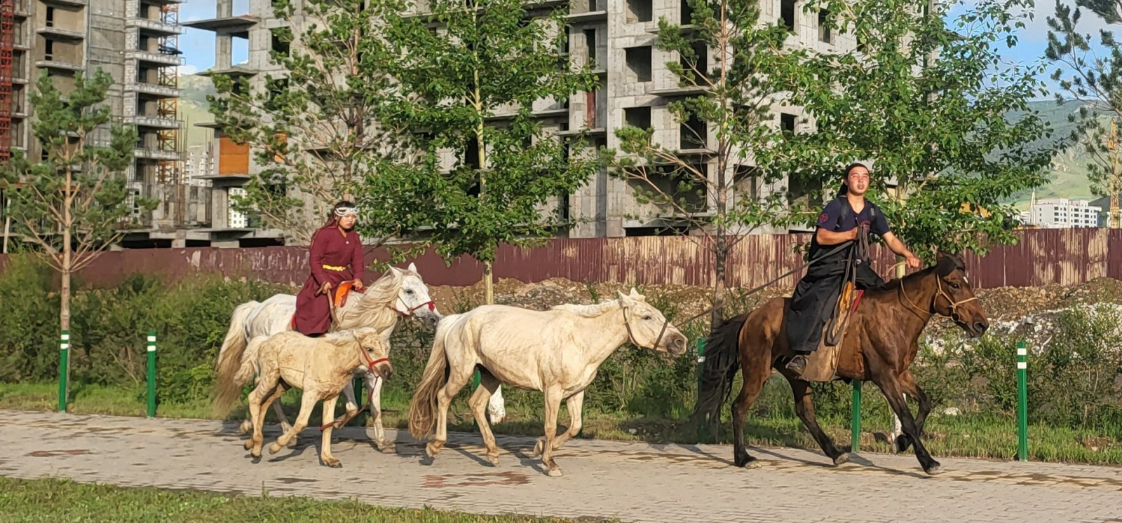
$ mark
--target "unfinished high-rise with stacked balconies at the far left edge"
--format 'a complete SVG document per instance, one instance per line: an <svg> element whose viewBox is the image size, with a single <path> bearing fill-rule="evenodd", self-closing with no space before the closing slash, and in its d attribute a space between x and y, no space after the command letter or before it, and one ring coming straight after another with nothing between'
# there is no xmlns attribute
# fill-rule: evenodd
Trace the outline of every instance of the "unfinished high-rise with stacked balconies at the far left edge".
<svg viewBox="0 0 1122 523"><path fill-rule="evenodd" d="M154 198L151 213L132 216L127 246L186 245L185 231L205 227L206 209L190 203L183 184L182 124L177 118L178 4L182 0L0 0L0 159L20 150L40 157L31 136L30 90L46 73L63 93L75 75L99 68L114 83L107 104L135 125L135 161L126 174L135 196ZM95 142L105 143L108 130ZM201 188L209 192L209 188ZM2 207L0 207L2 208Z"/></svg>

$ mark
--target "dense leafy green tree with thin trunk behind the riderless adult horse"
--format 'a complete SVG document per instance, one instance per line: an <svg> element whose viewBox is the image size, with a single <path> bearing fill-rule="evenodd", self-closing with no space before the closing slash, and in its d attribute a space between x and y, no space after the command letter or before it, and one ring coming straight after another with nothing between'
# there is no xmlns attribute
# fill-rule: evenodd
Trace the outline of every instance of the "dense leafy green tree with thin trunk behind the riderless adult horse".
<svg viewBox="0 0 1122 523"><path fill-rule="evenodd" d="M498 245L563 226L543 209L597 168L582 138L546 132L534 110L591 90L594 76L563 54L563 11L522 0L434 0L424 9L386 19L401 92L380 120L416 131L426 168L410 181L414 207L439 252L484 262L493 302Z"/></svg>

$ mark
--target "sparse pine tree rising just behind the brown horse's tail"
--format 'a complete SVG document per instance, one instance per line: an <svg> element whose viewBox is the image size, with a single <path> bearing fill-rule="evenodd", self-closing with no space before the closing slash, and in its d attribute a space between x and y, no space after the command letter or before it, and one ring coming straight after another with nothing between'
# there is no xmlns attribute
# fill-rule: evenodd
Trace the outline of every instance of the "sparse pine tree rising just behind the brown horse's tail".
<svg viewBox="0 0 1122 523"><path fill-rule="evenodd" d="M798 53L784 49L790 31L764 21L757 0L688 0L686 26L659 20L655 47L680 57L666 64L680 100L668 105L677 141L652 129L616 130L618 151L605 151L613 172L629 181L649 221L689 233L714 259L711 324L720 323L726 263L736 243L764 225L783 225L780 179L769 169L776 141L788 139L771 111ZM710 59L711 57L711 59Z"/></svg>

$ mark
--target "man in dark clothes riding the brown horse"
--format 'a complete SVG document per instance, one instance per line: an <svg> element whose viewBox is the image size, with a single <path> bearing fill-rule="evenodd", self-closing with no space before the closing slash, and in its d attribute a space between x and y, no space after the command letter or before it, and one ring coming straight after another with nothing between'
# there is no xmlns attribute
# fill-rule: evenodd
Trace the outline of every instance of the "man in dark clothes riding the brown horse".
<svg viewBox="0 0 1122 523"><path fill-rule="evenodd" d="M868 185L868 168L850 164L845 169L842 190L818 216L810 240L810 264L794 288L787 314L788 344L794 356L785 366L795 375L802 374L807 356L818 348L845 282L852 280L856 289L874 289L884 283L870 264L870 231L884 239L892 252L904 256L908 267L920 265L919 259L892 234L881 208L865 199Z"/></svg>

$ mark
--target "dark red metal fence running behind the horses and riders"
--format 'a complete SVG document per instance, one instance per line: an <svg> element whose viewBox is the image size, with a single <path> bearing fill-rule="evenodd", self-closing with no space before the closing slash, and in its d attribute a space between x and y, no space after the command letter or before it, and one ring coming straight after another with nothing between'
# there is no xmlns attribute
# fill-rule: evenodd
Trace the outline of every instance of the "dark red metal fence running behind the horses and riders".
<svg viewBox="0 0 1122 523"><path fill-rule="evenodd" d="M752 235L741 239L728 262L728 283L755 287L800 263L794 249L806 234ZM497 278L524 282L565 278L585 282L708 286L714 262L705 239L642 236L557 239L533 249L504 245L495 262ZM884 274L894 263L891 252L874 248L874 265ZM964 256L972 282L980 288L1074 286L1110 277L1122 279L1122 231L1105 228L1026 231L1015 245L996 246L986 256ZM384 250L367 262L386 260ZM433 252L413 260L432 286L468 286L482 278L482 265L471 258L450 264ZM0 256L0 272L3 258ZM80 273L88 286L113 286L134 273L178 278L195 272L229 278L254 278L301 284L307 278L307 250L300 246L260 249L159 249L102 254ZM793 287L801 274L776 284Z"/></svg>

